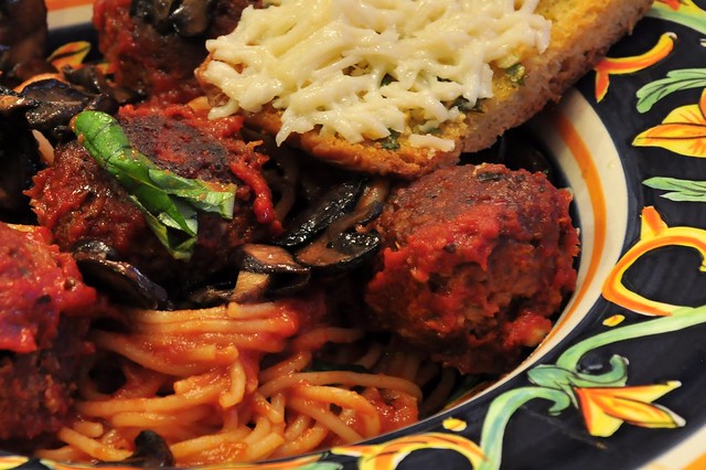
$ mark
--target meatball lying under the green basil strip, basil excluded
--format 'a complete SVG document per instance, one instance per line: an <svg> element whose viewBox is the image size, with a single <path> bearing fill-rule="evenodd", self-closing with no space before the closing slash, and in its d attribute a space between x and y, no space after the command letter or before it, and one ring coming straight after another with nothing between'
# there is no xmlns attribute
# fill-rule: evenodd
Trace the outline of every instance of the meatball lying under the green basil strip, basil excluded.
<svg viewBox="0 0 706 470"><path fill-rule="evenodd" d="M237 140L239 118L208 120L188 106L124 107L118 121L128 139L158 167L181 177L235 183L234 216L199 212L199 236L190 259L174 259L152 233L142 212L118 181L77 141L55 149L54 164L34 177L29 191L41 225L63 249L92 241L110 246L117 258L137 267L172 295L235 265L232 248L276 233L269 188L261 165L267 158Z"/></svg>

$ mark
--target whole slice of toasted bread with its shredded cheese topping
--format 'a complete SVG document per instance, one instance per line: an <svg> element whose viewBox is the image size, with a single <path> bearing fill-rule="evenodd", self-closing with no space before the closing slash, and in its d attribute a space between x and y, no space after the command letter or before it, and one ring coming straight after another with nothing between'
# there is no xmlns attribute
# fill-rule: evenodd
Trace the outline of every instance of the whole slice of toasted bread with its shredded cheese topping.
<svg viewBox="0 0 706 470"><path fill-rule="evenodd" d="M557 99L650 2L279 0L210 41L197 76L213 116L240 113L280 143L415 178Z"/></svg>

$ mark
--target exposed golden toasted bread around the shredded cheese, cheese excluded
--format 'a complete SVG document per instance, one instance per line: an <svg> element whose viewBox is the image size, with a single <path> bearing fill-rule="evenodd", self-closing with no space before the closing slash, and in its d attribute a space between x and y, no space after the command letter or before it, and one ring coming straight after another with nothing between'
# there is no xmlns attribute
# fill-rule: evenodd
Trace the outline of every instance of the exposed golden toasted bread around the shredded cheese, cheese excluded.
<svg viewBox="0 0 706 470"><path fill-rule="evenodd" d="M402 179L415 179L454 164L461 152L490 147L505 130L525 122L548 102L557 102L614 42L632 31L652 2L541 0L537 13L553 22L548 49L523 61L522 85L513 83L506 74L495 74L494 96L482 102L480 113L468 113L464 121L442 126L442 137L457 142L451 151L415 148L402 138L395 149L385 148L382 141L351 143L341 138L322 137L317 130L292 133L287 142L354 171ZM201 68L206 64L207 61ZM270 107L257 114L245 114L245 120L274 135L281 126L279 116L280 111Z"/></svg>

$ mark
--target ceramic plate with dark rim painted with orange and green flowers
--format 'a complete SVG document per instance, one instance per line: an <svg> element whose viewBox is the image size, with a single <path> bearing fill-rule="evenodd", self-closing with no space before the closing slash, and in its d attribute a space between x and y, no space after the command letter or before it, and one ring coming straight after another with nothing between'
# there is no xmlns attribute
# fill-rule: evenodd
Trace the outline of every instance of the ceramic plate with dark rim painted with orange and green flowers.
<svg viewBox="0 0 706 470"><path fill-rule="evenodd" d="M89 31L75 28L86 1L49 6L55 39ZM705 36L706 2L657 0L531 124L575 193L582 243L579 288L531 357L413 427L255 467L706 468ZM18 466L65 468L0 458Z"/></svg>

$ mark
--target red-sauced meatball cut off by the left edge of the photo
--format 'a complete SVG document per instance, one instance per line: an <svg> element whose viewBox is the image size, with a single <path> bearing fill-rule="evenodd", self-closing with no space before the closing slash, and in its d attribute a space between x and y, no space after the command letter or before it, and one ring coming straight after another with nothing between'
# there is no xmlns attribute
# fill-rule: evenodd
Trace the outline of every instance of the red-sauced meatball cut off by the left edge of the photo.
<svg viewBox="0 0 706 470"><path fill-rule="evenodd" d="M58 430L97 300L49 232L0 223L0 439Z"/></svg>

